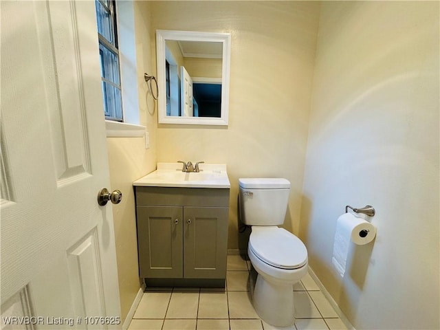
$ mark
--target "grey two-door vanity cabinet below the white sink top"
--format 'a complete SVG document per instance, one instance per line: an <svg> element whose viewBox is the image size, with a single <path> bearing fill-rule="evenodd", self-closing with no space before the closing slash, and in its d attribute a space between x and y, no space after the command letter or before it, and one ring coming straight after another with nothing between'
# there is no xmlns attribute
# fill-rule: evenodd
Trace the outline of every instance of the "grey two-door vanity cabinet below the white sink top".
<svg viewBox="0 0 440 330"><path fill-rule="evenodd" d="M135 191L140 277L169 285L178 282L172 279L224 283L229 189L137 186Z"/></svg>

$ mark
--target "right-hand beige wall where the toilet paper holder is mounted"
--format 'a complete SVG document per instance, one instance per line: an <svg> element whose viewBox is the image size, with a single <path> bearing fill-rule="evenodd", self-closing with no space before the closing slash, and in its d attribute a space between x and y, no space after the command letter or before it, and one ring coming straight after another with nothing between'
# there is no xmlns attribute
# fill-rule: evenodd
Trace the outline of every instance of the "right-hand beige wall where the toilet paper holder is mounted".
<svg viewBox="0 0 440 330"><path fill-rule="evenodd" d="M439 329L439 2L322 3L300 237L356 329ZM374 243L331 265L344 206ZM353 259L352 259L353 257Z"/></svg>

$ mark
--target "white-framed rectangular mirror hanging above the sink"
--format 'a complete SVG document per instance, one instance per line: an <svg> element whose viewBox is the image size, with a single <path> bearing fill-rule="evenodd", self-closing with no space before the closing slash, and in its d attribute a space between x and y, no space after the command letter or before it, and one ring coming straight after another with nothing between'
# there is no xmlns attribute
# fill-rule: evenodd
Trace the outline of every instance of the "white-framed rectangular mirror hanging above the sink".
<svg viewBox="0 0 440 330"><path fill-rule="evenodd" d="M228 125L230 34L157 30L159 124Z"/></svg>

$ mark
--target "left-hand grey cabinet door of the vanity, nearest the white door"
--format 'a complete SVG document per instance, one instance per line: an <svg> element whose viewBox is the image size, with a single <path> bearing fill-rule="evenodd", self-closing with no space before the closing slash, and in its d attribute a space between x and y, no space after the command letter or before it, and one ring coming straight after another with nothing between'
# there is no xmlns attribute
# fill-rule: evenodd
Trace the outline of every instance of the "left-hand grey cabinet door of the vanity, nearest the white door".
<svg viewBox="0 0 440 330"><path fill-rule="evenodd" d="M137 206L137 247L142 278L183 276L181 206Z"/></svg>

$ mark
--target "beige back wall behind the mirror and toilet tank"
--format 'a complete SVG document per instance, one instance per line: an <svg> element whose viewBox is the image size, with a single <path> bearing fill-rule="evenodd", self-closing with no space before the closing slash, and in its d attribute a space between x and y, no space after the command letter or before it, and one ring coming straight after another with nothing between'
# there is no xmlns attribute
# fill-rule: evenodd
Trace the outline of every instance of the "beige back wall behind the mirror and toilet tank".
<svg viewBox="0 0 440 330"><path fill-rule="evenodd" d="M153 30L232 34L229 126L157 129L158 162L228 165L230 249L246 249L247 243L237 230L239 177L289 179L285 227L298 230L319 6L300 1L151 1Z"/></svg>

